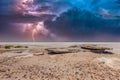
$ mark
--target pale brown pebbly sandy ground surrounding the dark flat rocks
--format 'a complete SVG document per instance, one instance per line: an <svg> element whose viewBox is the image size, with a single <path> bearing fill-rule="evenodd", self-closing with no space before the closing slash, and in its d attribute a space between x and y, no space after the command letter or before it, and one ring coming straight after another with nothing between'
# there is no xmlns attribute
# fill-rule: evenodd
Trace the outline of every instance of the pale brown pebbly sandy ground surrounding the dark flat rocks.
<svg viewBox="0 0 120 80"><path fill-rule="evenodd" d="M29 48L0 48L0 80L120 80L119 44L94 44L112 48L113 54L70 48L78 43L22 45ZM50 55L49 48L72 52Z"/></svg>

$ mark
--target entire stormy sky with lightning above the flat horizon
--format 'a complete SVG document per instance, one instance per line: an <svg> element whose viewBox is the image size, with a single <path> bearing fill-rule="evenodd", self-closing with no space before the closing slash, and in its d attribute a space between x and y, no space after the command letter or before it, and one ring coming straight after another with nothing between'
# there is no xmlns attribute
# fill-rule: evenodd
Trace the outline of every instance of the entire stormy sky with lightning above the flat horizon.
<svg viewBox="0 0 120 80"><path fill-rule="evenodd" d="M0 0L1 42L119 42L120 0Z"/></svg>

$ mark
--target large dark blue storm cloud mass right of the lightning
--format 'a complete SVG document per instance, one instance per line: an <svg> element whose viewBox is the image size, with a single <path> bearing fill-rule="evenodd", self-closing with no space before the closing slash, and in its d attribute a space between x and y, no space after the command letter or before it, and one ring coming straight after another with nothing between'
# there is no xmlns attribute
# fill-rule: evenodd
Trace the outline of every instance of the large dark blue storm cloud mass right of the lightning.
<svg viewBox="0 0 120 80"><path fill-rule="evenodd" d="M120 36L120 19L104 19L76 8L62 14L55 22L46 22L46 25L71 41L117 41L113 37Z"/></svg>

